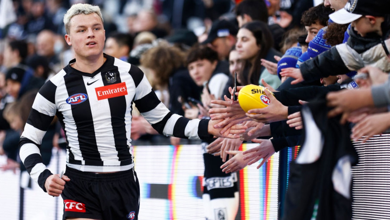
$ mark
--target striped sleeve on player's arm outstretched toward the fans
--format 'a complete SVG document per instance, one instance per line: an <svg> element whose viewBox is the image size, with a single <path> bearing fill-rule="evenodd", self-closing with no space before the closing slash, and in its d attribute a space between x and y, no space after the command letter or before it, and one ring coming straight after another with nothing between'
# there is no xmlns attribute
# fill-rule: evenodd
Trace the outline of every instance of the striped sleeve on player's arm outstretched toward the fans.
<svg viewBox="0 0 390 220"><path fill-rule="evenodd" d="M133 79L137 76L137 80L134 81L139 82L135 83L135 106L159 134L185 139L209 140L213 138L207 131L209 120L190 120L178 114L172 114L158 99L143 73L143 77L134 73L131 75Z"/></svg>

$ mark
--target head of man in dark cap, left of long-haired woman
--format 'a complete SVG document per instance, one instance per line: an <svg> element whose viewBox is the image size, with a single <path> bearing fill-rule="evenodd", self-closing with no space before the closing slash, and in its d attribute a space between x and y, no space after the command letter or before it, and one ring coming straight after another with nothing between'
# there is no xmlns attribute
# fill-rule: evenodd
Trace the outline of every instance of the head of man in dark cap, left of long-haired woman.
<svg viewBox="0 0 390 220"><path fill-rule="evenodd" d="M230 49L236 44L238 28L228 20L216 20L211 26L207 39L202 44L207 44L218 53L219 60L227 60Z"/></svg>

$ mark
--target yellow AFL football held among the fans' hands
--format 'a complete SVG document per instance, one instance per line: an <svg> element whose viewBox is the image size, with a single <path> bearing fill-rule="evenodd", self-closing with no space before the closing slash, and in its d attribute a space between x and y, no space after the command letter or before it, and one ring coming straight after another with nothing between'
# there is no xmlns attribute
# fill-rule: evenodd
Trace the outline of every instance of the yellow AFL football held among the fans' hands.
<svg viewBox="0 0 390 220"><path fill-rule="evenodd" d="M264 92L264 86L249 84L238 92L238 102L241 108L248 112L250 109L261 109L269 106L269 98Z"/></svg>

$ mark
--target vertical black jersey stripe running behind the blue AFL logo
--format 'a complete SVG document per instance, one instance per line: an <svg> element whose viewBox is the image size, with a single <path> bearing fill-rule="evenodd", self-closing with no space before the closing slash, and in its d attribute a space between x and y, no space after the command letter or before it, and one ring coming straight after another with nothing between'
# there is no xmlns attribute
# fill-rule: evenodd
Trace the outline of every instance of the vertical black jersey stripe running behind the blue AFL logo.
<svg viewBox="0 0 390 220"><path fill-rule="evenodd" d="M69 96L77 93L87 94L82 75L66 74L64 76L64 81ZM83 159L85 161L101 161L100 153L97 150L96 145L95 129L89 98L80 104L71 105L71 109L74 122L76 123L78 143Z"/></svg>

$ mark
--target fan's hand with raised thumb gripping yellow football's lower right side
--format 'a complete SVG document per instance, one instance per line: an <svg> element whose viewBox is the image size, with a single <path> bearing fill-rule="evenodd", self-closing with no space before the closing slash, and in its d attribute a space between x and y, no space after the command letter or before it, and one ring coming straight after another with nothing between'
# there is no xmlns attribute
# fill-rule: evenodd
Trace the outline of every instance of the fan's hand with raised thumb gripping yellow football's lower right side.
<svg viewBox="0 0 390 220"><path fill-rule="evenodd" d="M246 113L246 116L261 123L277 122L287 119L288 107L280 103L267 89L264 89L264 92L269 98L269 106L261 109L251 109Z"/></svg>

